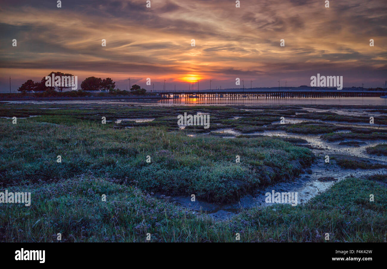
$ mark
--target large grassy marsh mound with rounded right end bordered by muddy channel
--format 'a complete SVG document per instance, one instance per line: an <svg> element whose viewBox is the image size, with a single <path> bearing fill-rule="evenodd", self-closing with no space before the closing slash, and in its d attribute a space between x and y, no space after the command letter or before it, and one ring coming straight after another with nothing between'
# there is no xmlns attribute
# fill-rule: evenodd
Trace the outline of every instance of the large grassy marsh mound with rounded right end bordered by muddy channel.
<svg viewBox="0 0 387 269"><path fill-rule="evenodd" d="M162 127L115 129L113 124L59 115L19 119L17 124L0 119L0 129L3 186L91 172L120 183L136 181L142 190L194 193L225 203L259 185L295 178L314 159L307 148L276 138L189 137ZM57 163L58 155L62 163Z"/></svg>

